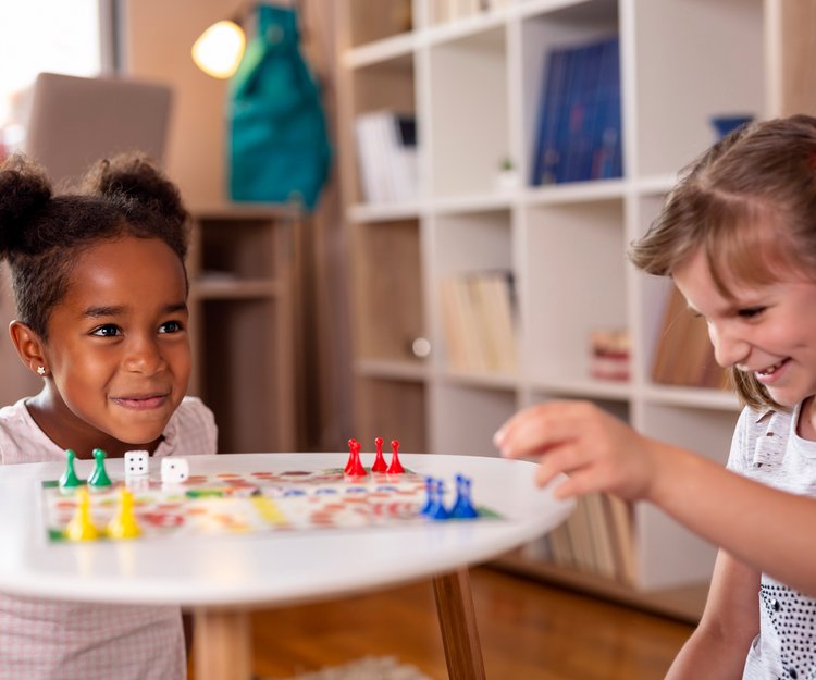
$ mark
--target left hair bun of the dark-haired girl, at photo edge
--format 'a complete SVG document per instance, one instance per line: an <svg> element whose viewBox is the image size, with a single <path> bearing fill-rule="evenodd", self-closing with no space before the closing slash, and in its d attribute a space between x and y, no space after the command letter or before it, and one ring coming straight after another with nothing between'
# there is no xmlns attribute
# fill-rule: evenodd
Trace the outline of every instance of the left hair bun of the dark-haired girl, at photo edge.
<svg viewBox="0 0 816 680"><path fill-rule="evenodd" d="M0 164L0 259L23 247L26 227L52 195L45 171L25 156Z"/></svg>

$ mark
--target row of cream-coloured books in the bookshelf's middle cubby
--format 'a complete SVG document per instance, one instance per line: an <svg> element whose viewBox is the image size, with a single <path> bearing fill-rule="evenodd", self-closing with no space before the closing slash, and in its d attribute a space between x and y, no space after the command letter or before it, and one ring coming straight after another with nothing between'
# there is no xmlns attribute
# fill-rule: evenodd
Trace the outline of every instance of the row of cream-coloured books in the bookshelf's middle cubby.
<svg viewBox="0 0 816 680"><path fill-rule="evenodd" d="M442 323L452 369L511 373L518 366L510 272L444 279Z"/></svg>

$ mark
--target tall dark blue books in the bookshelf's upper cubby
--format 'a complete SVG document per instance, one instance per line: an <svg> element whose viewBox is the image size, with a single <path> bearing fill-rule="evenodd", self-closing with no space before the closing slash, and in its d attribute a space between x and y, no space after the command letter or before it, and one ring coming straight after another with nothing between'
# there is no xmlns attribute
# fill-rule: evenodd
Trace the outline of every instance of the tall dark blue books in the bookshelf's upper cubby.
<svg viewBox="0 0 816 680"><path fill-rule="evenodd" d="M618 37L549 50L532 185L620 177L621 141Z"/></svg>

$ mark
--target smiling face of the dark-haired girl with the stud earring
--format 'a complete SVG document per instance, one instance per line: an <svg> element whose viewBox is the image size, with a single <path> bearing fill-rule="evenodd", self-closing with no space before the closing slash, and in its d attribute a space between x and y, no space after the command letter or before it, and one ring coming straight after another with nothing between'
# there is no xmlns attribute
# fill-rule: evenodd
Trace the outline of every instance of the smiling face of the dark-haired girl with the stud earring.
<svg viewBox="0 0 816 680"><path fill-rule="evenodd" d="M162 434L187 391L186 279L156 238L81 252L48 323L49 387L35 418L64 447L111 455Z"/></svg>

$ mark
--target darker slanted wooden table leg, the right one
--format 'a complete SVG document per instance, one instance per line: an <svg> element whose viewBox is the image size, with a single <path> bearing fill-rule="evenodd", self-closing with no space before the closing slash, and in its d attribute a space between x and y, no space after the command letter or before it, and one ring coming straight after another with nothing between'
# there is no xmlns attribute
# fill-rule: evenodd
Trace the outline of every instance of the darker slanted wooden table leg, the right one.
<svg viewBox="0 0 816 680"><path fill-rule="evenodd" d="M436 614L450 680L485 680L470 576L467 567L434 577Z"/></svg>

